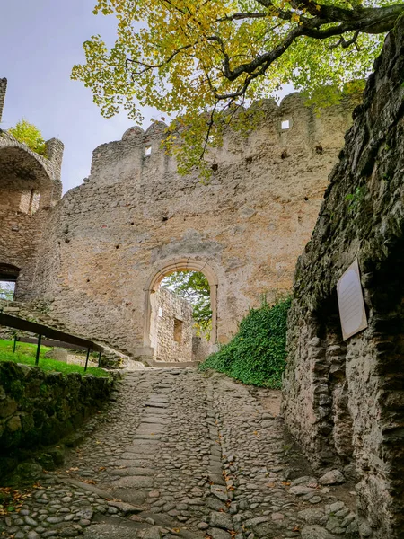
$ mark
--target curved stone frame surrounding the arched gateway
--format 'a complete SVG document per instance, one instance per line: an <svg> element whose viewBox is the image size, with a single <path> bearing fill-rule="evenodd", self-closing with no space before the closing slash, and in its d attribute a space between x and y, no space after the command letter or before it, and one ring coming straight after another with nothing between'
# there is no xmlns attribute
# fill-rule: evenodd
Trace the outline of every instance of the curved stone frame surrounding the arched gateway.
<svg viewBox="0 0 404 539"><path fill-rule="evenodd" d="M143 353L139 355L153 355L154 353L154 350L151 348L150 340L152 318L152 302L150 295L158 289L164 277L170 275L174 271L181 270L201 271L205 275L210 287L210 304L212 307L211 340L213 343L217 341L217 289L219 282L215 270L213 270L205 261L179 258L165 263L160 270L154 273L145 287L144 350Z"/></svg>

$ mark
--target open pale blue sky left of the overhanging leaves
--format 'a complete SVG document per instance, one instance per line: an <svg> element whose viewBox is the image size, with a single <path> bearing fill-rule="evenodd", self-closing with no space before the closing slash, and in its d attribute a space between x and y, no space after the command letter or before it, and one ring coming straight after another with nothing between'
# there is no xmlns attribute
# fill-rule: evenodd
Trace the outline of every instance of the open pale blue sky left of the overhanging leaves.
<svg viewBox="0 0 404 539"><path fill-rule="evenodd" d="M96 0L0 0L2 47L0 78L8 79L1 128L22 118L40 128L46 140L65 144L64 192L90 173L92 151L119 140L133 120L123 113L103 119L83 83L70 80L83 63L83 41L93 34L113 42L115 18L93 15ZM145 125L156 118L145 112Z"/></svg>

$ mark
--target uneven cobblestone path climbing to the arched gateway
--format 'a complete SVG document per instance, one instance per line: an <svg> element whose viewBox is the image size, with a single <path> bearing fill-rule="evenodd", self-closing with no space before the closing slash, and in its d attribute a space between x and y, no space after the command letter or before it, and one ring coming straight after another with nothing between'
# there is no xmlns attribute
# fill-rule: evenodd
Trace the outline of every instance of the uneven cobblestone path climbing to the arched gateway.
<svg viewBox="0 0 404 539"><path fill-rule="evenodd" d="M324 486L338 472L319 484L265 394L195 369L127 374L2 536L358 537L352 485Z"/></svg>

